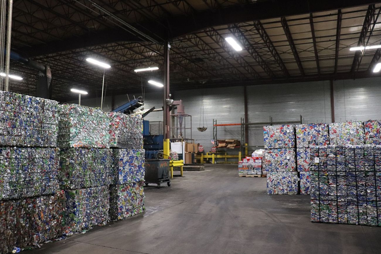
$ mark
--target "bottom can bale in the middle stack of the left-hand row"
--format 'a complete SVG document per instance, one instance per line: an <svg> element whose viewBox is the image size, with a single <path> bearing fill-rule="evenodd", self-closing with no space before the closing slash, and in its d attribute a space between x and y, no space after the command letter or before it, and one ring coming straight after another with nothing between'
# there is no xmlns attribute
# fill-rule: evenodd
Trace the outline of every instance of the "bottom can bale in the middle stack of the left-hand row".
<svg viewBox="0 0 381 254"><path fill-rule="evenodd" d="M64 192L66 213L63 218L63 225L66 225L66 232L79 232L108 222L110 208L108 185L64 190Z"/></svg>

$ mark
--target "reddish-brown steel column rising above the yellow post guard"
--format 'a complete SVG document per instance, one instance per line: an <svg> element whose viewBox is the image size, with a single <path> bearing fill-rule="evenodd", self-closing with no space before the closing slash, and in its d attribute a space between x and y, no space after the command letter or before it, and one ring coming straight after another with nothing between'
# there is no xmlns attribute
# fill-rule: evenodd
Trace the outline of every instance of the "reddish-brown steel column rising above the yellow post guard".
<svg viewBox="0 0 381 254"><path fill-rule="evenodd" d="M170 45L169 42L166 41L164 43L164 93L163 93L163 103L164 103L164 110L163 110L163 121L164 121L164 139L170 138L169 128L170 128L170 112L169 112L169 106L167 103L167 99L170 99L169 96L169 90L170 90L170 83L169 83L169 51L170 51Z"/></svg>

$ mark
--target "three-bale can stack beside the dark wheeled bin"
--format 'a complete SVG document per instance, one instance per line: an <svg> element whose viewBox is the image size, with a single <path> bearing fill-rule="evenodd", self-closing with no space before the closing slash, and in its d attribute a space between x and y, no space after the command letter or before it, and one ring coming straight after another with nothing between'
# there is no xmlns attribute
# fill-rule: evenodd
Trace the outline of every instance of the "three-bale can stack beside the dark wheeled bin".
<svg viewBox="0 0 381 254"><path fill-rule="evenodd" d="M113 120L114 119L114 120ZM141 116L120 116L113 115L111 123L118 120L118 124L111 124L113 133L118 142L114 142L113 149L114 183L110 186L110 218L124 219L141 212L144 212L144 149L142 149L142 128ZM117 126L125 126L123 129ZM127 138L123 138L123 136ZM128 140L128 142L119 142ZM129 149L123 149L128 147Z"/></svg>

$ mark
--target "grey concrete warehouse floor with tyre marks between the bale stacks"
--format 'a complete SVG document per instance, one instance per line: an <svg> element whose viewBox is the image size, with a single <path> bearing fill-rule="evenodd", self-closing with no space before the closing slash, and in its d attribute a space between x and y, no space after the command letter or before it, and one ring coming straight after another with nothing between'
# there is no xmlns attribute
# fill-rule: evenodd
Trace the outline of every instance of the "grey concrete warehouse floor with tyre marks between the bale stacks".
<svg viewBox="0 0 381 254"><path fill-rule="evenodd" d="M146 213L26 253L381 253L381 228L310 222L309 196L267 195L236 166L147 187Z"/></svg>

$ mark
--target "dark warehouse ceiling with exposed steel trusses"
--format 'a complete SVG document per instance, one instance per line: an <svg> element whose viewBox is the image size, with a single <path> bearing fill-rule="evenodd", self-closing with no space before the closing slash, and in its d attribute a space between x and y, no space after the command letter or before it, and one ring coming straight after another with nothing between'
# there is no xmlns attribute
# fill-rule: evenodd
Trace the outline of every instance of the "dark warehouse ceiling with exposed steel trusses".
<svg viewBox="0 0 381 254"><path fill-rule="evenodd" d="M107 94L141 91L163 79L163 45L170 50L171 89L255 85L374 76L381 51L381 4L375 1L282 0L14 0L12 48L49 65L53 99L70 88ZM234 36L243 50L224 38ZM150 73L139 67L158 66ZM35 94L37 71L11 62L11 91Z"/></svg>

